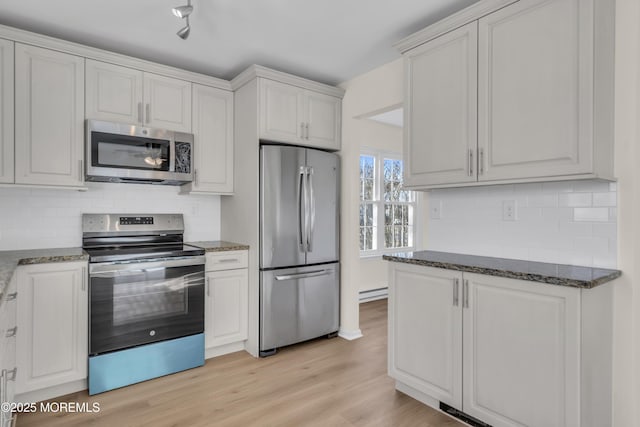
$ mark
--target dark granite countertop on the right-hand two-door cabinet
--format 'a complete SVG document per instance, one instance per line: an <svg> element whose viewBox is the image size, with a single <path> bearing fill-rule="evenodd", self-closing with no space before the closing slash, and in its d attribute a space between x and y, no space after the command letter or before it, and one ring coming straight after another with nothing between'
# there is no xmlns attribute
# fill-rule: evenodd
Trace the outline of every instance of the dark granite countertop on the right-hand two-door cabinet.
<svg viewBox="0 0 640 427"><path fill-rule="evenodd" d="M620 277L620 270L551 264L507 258L491 258L448 252L417 251L382 257L387 261L466 271L490 276L508 277L590 289Z"/></svg>

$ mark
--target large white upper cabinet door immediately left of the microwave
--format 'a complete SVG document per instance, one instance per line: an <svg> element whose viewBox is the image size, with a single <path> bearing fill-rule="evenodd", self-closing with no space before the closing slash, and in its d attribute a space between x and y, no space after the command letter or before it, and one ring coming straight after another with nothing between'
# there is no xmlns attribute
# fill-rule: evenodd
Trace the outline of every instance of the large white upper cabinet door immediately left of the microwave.
<svg viewBox="0 0 640 427"><path fill-rule="evenodd" d="M84 181L84 58L15 45L15 182Z"/></svg>

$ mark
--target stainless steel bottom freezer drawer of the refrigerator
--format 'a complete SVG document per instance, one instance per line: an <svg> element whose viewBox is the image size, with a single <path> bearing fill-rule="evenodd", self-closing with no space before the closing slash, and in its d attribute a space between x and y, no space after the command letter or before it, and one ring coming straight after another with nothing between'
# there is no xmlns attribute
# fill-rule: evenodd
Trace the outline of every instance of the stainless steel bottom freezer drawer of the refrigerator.
<svg viewBox="0 0 640 427"><path fill-rule="evenodd" d="M339 264L263 271L260 277L260 351L338 330Z"/></svg>

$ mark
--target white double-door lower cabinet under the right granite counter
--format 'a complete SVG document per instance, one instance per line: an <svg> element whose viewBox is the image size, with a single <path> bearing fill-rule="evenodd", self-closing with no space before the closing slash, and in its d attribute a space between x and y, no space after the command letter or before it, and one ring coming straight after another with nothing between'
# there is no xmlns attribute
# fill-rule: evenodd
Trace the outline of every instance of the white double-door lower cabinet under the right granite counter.
<svg viewBox="0 0 640 427"><path fill-rule="evenodd" d="M607 329L606 285L393 262L389 280L389 375L400 391L494 427L611 425L610 408L598 403L610 400L610 382L593 374L610 369L610 347L581 320L596 316L594 332Z"/></svg>

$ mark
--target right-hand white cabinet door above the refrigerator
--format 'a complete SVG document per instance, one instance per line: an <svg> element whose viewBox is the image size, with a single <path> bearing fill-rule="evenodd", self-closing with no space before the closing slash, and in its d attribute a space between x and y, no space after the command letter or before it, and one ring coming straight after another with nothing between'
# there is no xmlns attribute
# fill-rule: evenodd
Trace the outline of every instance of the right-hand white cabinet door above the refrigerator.
<svg viewBox="0 0 640 427"><path fill-rule="evenodd" d="M305 91L304 108L307 128L305 144L339 150L341 139L342 100L335 96Z"/></svg>

